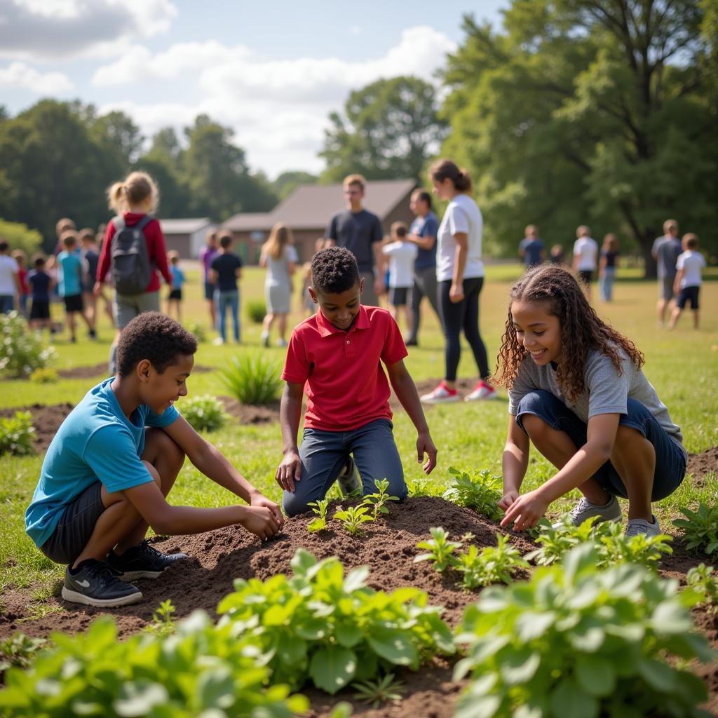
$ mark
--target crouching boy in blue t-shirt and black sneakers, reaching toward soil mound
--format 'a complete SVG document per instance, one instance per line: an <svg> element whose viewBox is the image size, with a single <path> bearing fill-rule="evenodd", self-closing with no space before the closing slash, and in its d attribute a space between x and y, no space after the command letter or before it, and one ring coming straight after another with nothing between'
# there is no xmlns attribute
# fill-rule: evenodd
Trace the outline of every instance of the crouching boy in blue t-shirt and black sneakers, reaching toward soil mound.
<svg viewBox="0 0 718 718"><path fill-rule="evenodd" d="M159 312L140 314L117 347L118 375L106 379L62 422L42 462L25 530L52 561L67 564L62 597L91 606L142 599L128 580L156 578L185 554L166 556L144 540L239 523L260 538L284 523L265 498L180 416L197 340ZM172 506L165 497L185 456L249 505Z"/></svg>

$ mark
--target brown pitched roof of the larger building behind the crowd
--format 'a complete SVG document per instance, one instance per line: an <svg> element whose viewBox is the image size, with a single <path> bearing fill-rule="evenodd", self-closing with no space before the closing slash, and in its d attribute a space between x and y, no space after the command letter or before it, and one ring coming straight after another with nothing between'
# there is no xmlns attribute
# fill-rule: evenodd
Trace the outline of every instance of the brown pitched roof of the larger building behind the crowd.
<svg viewBox="0 0 718 718"><path fill-rule="evenodd" d="M366 183L365 207L386 218L398 202L416 187L414 180L373 180ZM289 197L269 213L240 213L229 218L223 227L233 232L269 230L276 222L284 222L292 229L321 229L329 223L333 213L344 207L342 185L299 185Z"/></svg>

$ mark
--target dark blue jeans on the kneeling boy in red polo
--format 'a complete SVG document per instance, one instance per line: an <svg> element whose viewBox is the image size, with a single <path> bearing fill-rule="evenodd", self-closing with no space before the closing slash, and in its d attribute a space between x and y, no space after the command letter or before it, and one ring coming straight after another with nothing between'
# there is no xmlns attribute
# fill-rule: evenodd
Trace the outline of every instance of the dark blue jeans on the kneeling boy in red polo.
<svg viewBox="0 0 718 718"><path fill-rule="evenodd" d="M293 492L284 492L284 513L296 516L309 510L310 502L325 498L342 472L349 454L353 454L361 475L363 494L374 493L374 480L386 478L388 492L404 500L409 490L404 482L404 468L391 429L388 419L370 421L350 432L304 429L299 446L302 475L294 483Z"/></svg>

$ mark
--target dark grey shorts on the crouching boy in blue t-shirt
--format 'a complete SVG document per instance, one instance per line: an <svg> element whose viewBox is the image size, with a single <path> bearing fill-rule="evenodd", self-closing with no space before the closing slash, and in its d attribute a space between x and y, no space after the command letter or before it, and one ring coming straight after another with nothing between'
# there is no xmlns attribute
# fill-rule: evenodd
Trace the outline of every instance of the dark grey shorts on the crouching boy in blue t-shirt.
<svg viewBox="0 0 718 718"><path fill-rule="evenodd" d="M52 536L40 548L50 561L73 564L83 552L98 518L105 510L101 491L102 484L95 481L67 505Z"/></svg>

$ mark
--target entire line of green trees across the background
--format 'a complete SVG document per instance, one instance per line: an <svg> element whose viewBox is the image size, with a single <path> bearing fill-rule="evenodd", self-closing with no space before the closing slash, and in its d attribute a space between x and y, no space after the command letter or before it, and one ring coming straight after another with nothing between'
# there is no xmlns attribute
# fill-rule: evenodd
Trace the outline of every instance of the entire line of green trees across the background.
<svg viewBox="0 0 718 718"><path fill-rule="evenodd" d="M166 217L270 210L304 182L414 178L439 155L469 169L488 253L512 255L523 225L572 243L619 233L651 269L663 220L718 251L718 0L513 0L503 27L464 18L439 83L370 83L329 117L325 170L252 171L206 115L145 141L126 114L40 101L0 111L0 218L52 243L62 215L107 217L98 188L144 169Z"/></svg>

